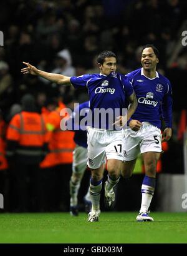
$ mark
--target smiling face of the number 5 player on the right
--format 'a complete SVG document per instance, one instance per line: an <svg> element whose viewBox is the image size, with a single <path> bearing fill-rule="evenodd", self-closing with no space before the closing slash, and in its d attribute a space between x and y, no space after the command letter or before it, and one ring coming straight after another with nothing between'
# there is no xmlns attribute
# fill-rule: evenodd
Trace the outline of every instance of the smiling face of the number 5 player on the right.
<svg viewBox="0 0 187 256"><path fill-rule="evenodd" d="M145 48L141 54L141 64L144 69L151 70L156 69L158 58L156 57L153 48Z"/></svg>

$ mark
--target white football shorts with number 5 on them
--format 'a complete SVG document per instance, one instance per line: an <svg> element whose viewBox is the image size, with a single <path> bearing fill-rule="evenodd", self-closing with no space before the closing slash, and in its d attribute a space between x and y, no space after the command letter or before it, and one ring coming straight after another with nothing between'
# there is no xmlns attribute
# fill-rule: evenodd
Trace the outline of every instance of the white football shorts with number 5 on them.
<svg viewBox="0 0 187 256"><path fill-rule="evenodd" d="M133 131L130 127L125 130L123 140L124 161L137 158L139 153L161 152L161 131L148 122L142 122L140 130Z"/></svg>

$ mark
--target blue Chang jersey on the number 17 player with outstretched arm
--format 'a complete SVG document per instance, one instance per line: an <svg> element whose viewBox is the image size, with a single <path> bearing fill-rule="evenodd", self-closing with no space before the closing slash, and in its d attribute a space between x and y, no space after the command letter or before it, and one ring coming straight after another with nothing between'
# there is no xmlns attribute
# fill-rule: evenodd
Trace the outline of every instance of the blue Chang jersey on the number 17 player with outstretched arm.
<svg viewBox="0 0 187 256"><path fill-rule="evenodd" d="M89 125L94 128L110 129L117 116L124 113L125 99L127 100L127 97L133 93L128 78L114 72L108 76L104 74L72 76L70 82L75 88L87 86L92 112ZM98 110L108 110L106 118L98 115Z"/></svg>

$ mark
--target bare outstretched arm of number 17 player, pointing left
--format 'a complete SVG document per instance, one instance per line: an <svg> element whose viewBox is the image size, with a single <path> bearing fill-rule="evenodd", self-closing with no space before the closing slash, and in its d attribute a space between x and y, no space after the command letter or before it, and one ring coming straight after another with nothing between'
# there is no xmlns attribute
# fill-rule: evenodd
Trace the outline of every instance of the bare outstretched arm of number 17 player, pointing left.
<svg viewBox="0 0 187 256"><path fill-rule="evenodd" d="M41 76L42 78L46 78L47 80L57 83L57 84L66 84L70 83L69 76L63 76L62 74L53 74L48 73L46 71L42 71L37 69L35 66L32 66L30 63L23 62L27 67L21 69L21 73L23 74L32 74L34 76Z"/></svg>

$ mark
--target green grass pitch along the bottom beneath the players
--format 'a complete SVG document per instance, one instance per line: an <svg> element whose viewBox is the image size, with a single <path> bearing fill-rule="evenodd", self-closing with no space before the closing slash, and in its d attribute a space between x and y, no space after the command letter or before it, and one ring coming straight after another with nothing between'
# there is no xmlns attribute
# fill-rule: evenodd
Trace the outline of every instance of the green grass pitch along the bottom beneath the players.
<svg viewBox="0 0 187 256"><path fill-rule="evenodd" d="M69 213L2 213L0 243L187 243L186 213L102 212L99 222Z"/></svg>

